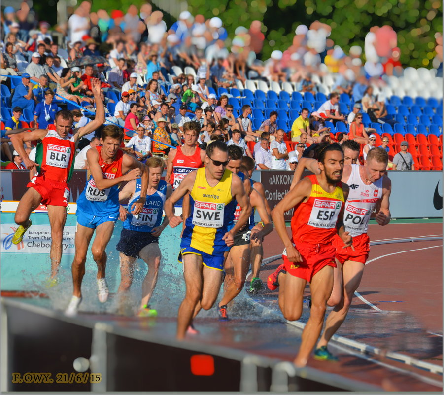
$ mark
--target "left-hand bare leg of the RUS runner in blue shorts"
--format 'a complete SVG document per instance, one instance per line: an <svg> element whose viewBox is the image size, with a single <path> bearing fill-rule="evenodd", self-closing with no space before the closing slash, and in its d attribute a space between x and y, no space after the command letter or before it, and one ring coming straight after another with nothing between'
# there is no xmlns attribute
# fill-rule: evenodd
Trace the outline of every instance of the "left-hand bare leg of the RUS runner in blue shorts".
<svg viewBox="0 0 444 395"><path fill-rule="evenodd" d="M85 275L86 253L93 234L94 229L77 223L74 238L75 255L71 266L72 284L74 286L72 294L77 297L82 296L81 287L83 276Z"/></svg>

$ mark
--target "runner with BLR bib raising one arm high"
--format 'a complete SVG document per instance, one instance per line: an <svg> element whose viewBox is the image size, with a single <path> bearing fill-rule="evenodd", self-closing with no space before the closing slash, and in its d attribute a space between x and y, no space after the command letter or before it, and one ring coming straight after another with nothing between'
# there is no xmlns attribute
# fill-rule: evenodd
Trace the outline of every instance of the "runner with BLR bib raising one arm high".
<svg viewBox="0 0 444 395"><path fill-rule="evenodd" d="M96 117L93 121L79 128L71 135L72 114L70 111L57 112L54 127L51 129L34 129L11 136L14 149L22 156L27 169L37 169L38 175L27 185L28 190L23 195L15 213L15 223L18 226L12 242L20 243L26 230L31 226L31 213L40 204L48 209L51 225L51 276L48 286L57 283L56 276L62 258L63 228L66 222L69 188L68 181L72 174L75 149L82 138L103 124L105 110L100 95L100 80L92 81L94 99L96 101ZM39 140L35 162L29 159L23 148L23 143Z"/></svg>

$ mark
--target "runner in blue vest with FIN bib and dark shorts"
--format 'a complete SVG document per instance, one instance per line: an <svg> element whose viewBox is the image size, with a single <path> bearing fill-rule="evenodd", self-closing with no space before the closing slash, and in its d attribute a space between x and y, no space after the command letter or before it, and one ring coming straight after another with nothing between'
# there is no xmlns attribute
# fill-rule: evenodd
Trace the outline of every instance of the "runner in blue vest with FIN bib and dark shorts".
<svg viewBox="0 0 444 395"><path fill-rule="evenodd" d="M159 236L168 225L165 216L162 222L162 213L165 200L172 193L172 187L161 180L164 163L158 157L149 158L146 161L149 168L148 189L146 201L142 211L138 215L131 214L131 207L140 197L140 179L128 182L119 193L119 201L130 200L126 206L120 206L120 219L123 222L122 233L116 246L120 252L120 286L118 293L121 295L120 308L124 310L126 292L133 283L136 259L142 259L148 265L148 273L142 283L142 299L139 317L154 317L155 309L151 309L148 302L156 287L157 275L162 253L159 249ZM162 224L161 224L162 222Z"/></svg>

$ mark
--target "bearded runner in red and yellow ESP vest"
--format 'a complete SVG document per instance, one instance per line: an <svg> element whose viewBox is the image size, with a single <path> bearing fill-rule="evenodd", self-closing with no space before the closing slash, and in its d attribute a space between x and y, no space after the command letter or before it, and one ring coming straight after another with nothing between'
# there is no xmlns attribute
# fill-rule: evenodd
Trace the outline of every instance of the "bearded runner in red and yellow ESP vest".
<svg viewBox="0 0 444 395"><path fill-rule="evenodd" d="M285 250L284 264L269 277L268 285L274 289L280 286L279 307L287 320L301 317L304 289L307 281L310 282L313 307L294 359L299 367L307 364L324 323L336 266L333 237L339 234L344 247L351 246L352 240L343 226L344 201L349 189L341 183L344 166L341 146L326 146L318 154L318 162L321 173L301 180L272 211L274 226ZM284 213L293 207L290 239Z"/></svg>

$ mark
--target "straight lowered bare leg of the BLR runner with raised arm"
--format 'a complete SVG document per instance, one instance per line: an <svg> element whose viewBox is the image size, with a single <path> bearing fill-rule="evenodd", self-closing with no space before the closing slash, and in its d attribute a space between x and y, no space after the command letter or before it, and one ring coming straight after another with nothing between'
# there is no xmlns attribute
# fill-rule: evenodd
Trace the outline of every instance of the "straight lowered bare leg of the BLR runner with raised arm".
<svg viewBox="0 0 444 395"><path fill-rule="evenodd" d="M63 206L47 206L49 223L51 225L51 278L59 273L62 260L63 228L67 220L67 209Z"/></svg>

